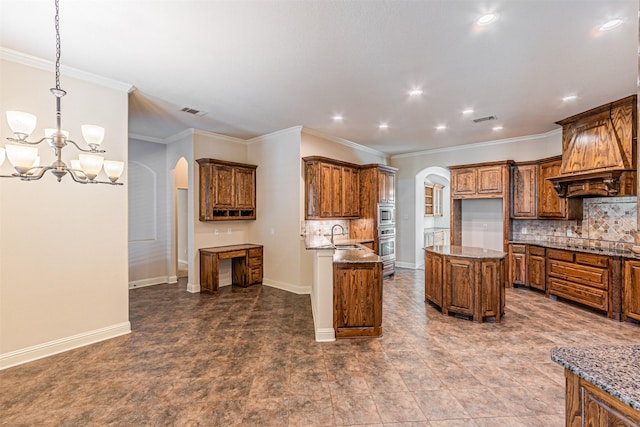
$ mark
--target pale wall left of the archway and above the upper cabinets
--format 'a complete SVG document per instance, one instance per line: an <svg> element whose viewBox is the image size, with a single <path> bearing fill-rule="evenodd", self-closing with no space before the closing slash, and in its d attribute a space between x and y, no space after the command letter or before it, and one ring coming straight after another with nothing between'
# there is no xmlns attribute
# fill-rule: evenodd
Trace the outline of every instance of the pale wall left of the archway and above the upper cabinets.
<svg viewBox="0 0 640 427"><path fill-rule="evenodd" d="M467 163L498 160L526 161L558 155L562 152L560 130L523 138L496 140L462 145L448 149L391 157L391 166L398 168L396 179L396 262L401 266L416 267L419 252L415 250L423 239L422 230L416 229L416 175L428 167L448 167ZM495 222L486 212L487 221ZM496 215L500 215L499 213ZM464 216L464 206L463 206ZM500 215L501 216L501 215ZM487 222L488 223L488 222ZM418 254L418 255L416 255Z"/></svg>

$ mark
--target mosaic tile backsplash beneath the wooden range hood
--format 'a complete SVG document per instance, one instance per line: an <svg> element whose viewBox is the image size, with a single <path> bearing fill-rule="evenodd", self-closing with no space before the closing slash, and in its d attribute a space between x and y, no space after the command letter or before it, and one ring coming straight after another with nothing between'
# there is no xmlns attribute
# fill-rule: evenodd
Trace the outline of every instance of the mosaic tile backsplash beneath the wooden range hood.
<svg viewBox="0 0 640 427"><path fill-rule="evenodd" d="M636 197L583 200L582 220L513 220L512 239L629 250L637 232Z"/></svg>

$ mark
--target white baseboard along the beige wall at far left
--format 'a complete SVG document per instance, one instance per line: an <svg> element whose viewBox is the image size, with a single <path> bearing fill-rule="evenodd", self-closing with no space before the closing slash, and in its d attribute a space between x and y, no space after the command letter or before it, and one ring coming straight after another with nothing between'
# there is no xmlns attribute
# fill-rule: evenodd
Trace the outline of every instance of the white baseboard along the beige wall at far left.
<svg viewBox="0 0 640 427"><path fill-rule="evenodd" d="M53 356L54 354L84 347L100 341L126 335L131 332L131 323L123 322L106 328L94 329L70 337L60 338L43 344L34 345L9 353L0 354L0 370L21 365L33 360Z"/></svg>

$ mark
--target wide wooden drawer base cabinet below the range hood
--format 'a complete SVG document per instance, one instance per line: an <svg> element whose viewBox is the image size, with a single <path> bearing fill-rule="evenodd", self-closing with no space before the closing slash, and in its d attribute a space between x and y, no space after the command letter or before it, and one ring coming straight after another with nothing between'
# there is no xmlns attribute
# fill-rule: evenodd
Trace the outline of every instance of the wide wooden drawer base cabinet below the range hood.
<svg viewBox="0 0 640 427"><path fill-rule="evenodd" d="M549 295L602 310L621 318L621 259L607 255L547 249Z"/></svg>

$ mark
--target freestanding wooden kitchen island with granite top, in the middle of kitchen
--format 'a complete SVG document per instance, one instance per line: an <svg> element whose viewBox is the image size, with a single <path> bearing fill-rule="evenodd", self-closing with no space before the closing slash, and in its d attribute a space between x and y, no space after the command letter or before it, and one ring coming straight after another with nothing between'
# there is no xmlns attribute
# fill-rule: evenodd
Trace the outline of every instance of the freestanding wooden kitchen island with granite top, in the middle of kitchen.
<svg viewBox="0 0 640 427"><path fill-rule="evenodd" d="M469 246L430 246L425 251L425 300L443 314L482 322L504 315L504 252Z"/></svg>

